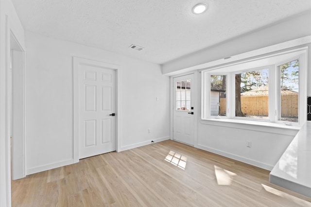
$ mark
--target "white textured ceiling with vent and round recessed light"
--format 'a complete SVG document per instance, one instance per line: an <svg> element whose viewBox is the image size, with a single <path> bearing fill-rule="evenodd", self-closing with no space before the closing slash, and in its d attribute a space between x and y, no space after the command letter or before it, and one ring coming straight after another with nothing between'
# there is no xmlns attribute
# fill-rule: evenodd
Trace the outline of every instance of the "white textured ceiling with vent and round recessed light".
<svg viewBox="0 0 311 207"><path fill-rule="evenodd" d="M158 64L311 9L311 0L12 1L27 31ZM207 12L192 14L201 2Z"/></svg>

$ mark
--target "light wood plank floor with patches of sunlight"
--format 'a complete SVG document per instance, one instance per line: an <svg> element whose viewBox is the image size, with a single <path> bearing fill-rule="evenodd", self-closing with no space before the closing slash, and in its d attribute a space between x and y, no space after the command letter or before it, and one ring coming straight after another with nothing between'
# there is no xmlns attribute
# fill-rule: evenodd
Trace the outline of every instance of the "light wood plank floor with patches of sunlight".
<svg viewBox="0 0 311 207"><path fill-rule="evenodd" d="M167 140L12 181L12 206L311 206L268 179L269 171Z"/></svg>

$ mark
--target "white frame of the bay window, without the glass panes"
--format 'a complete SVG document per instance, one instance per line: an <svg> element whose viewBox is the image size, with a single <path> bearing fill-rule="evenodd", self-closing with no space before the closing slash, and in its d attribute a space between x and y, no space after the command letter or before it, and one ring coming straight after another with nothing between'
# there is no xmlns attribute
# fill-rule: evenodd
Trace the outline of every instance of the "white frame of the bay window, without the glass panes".
<svg viewBox="0 0 311 207"><path fill-rule="evenodd" d="M270 125L276 125L281 127L300 127L307 119L306 107L303 103L307 101L307 66L308 66L308 47L297 48L294 50L287 50L283 52L275 52L274 54L262 55L260 58L249 58L247 61L239 61L233 64L226 64L220 67L215 67L211 69L203 69L202 74L202 110L201 119L202 120L219 120L219 121L230 121L230 122L242 122L266 125L266 122L270 122ZM271 58L273 63L258 65L255 67L250 67L247 69L234 69L228 71L230 67L239 66L243 63L256 63L257 60L265 60ZM280 86L279 86L279 71L278 67L284 63L291 62L293 60L299 59L299 89L298 89L298 122L292 121L281 121L280 117ZM265 62L265 61L262 61ZM260 63L260 61L259 61ZM245 64L247 65L247 64ZM246 71L256 71L260 69L268 69L269 74L269 92L268 92L268 119L256 119L256 118L246 118L246 117L236 117L235 116L235 74L246 72ZM224 72L222 72L224 71ZM210 76L211 75L226 75L226 116L210 116Z"/></svg>

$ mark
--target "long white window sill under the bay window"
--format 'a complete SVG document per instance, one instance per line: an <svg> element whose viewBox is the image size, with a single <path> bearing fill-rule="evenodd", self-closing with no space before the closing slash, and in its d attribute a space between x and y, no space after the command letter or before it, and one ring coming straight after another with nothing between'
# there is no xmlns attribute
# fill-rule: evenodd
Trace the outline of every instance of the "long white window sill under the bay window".
<svg viewBox="0 0 311 207"><path fill-rule="evenodd" d="M217 118L201 119L200 123L207 125L223 126L223 127L246 129L268 133L277 133L292 136L295 136L301 128L300 126L291 126L281 123L254 121L254 120L238 120L238 119L217 119Z"/></svg>

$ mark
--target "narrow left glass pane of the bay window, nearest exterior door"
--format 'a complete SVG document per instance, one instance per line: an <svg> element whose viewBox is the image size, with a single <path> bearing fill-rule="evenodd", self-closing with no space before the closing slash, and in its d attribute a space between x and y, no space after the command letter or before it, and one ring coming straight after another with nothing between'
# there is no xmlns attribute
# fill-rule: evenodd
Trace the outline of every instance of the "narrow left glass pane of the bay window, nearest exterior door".
<svg viewBox="0 0 311 207"><path fill-rule="evenodd" d="M226 75L210 76L210 116L226 116Z"/></svg>

